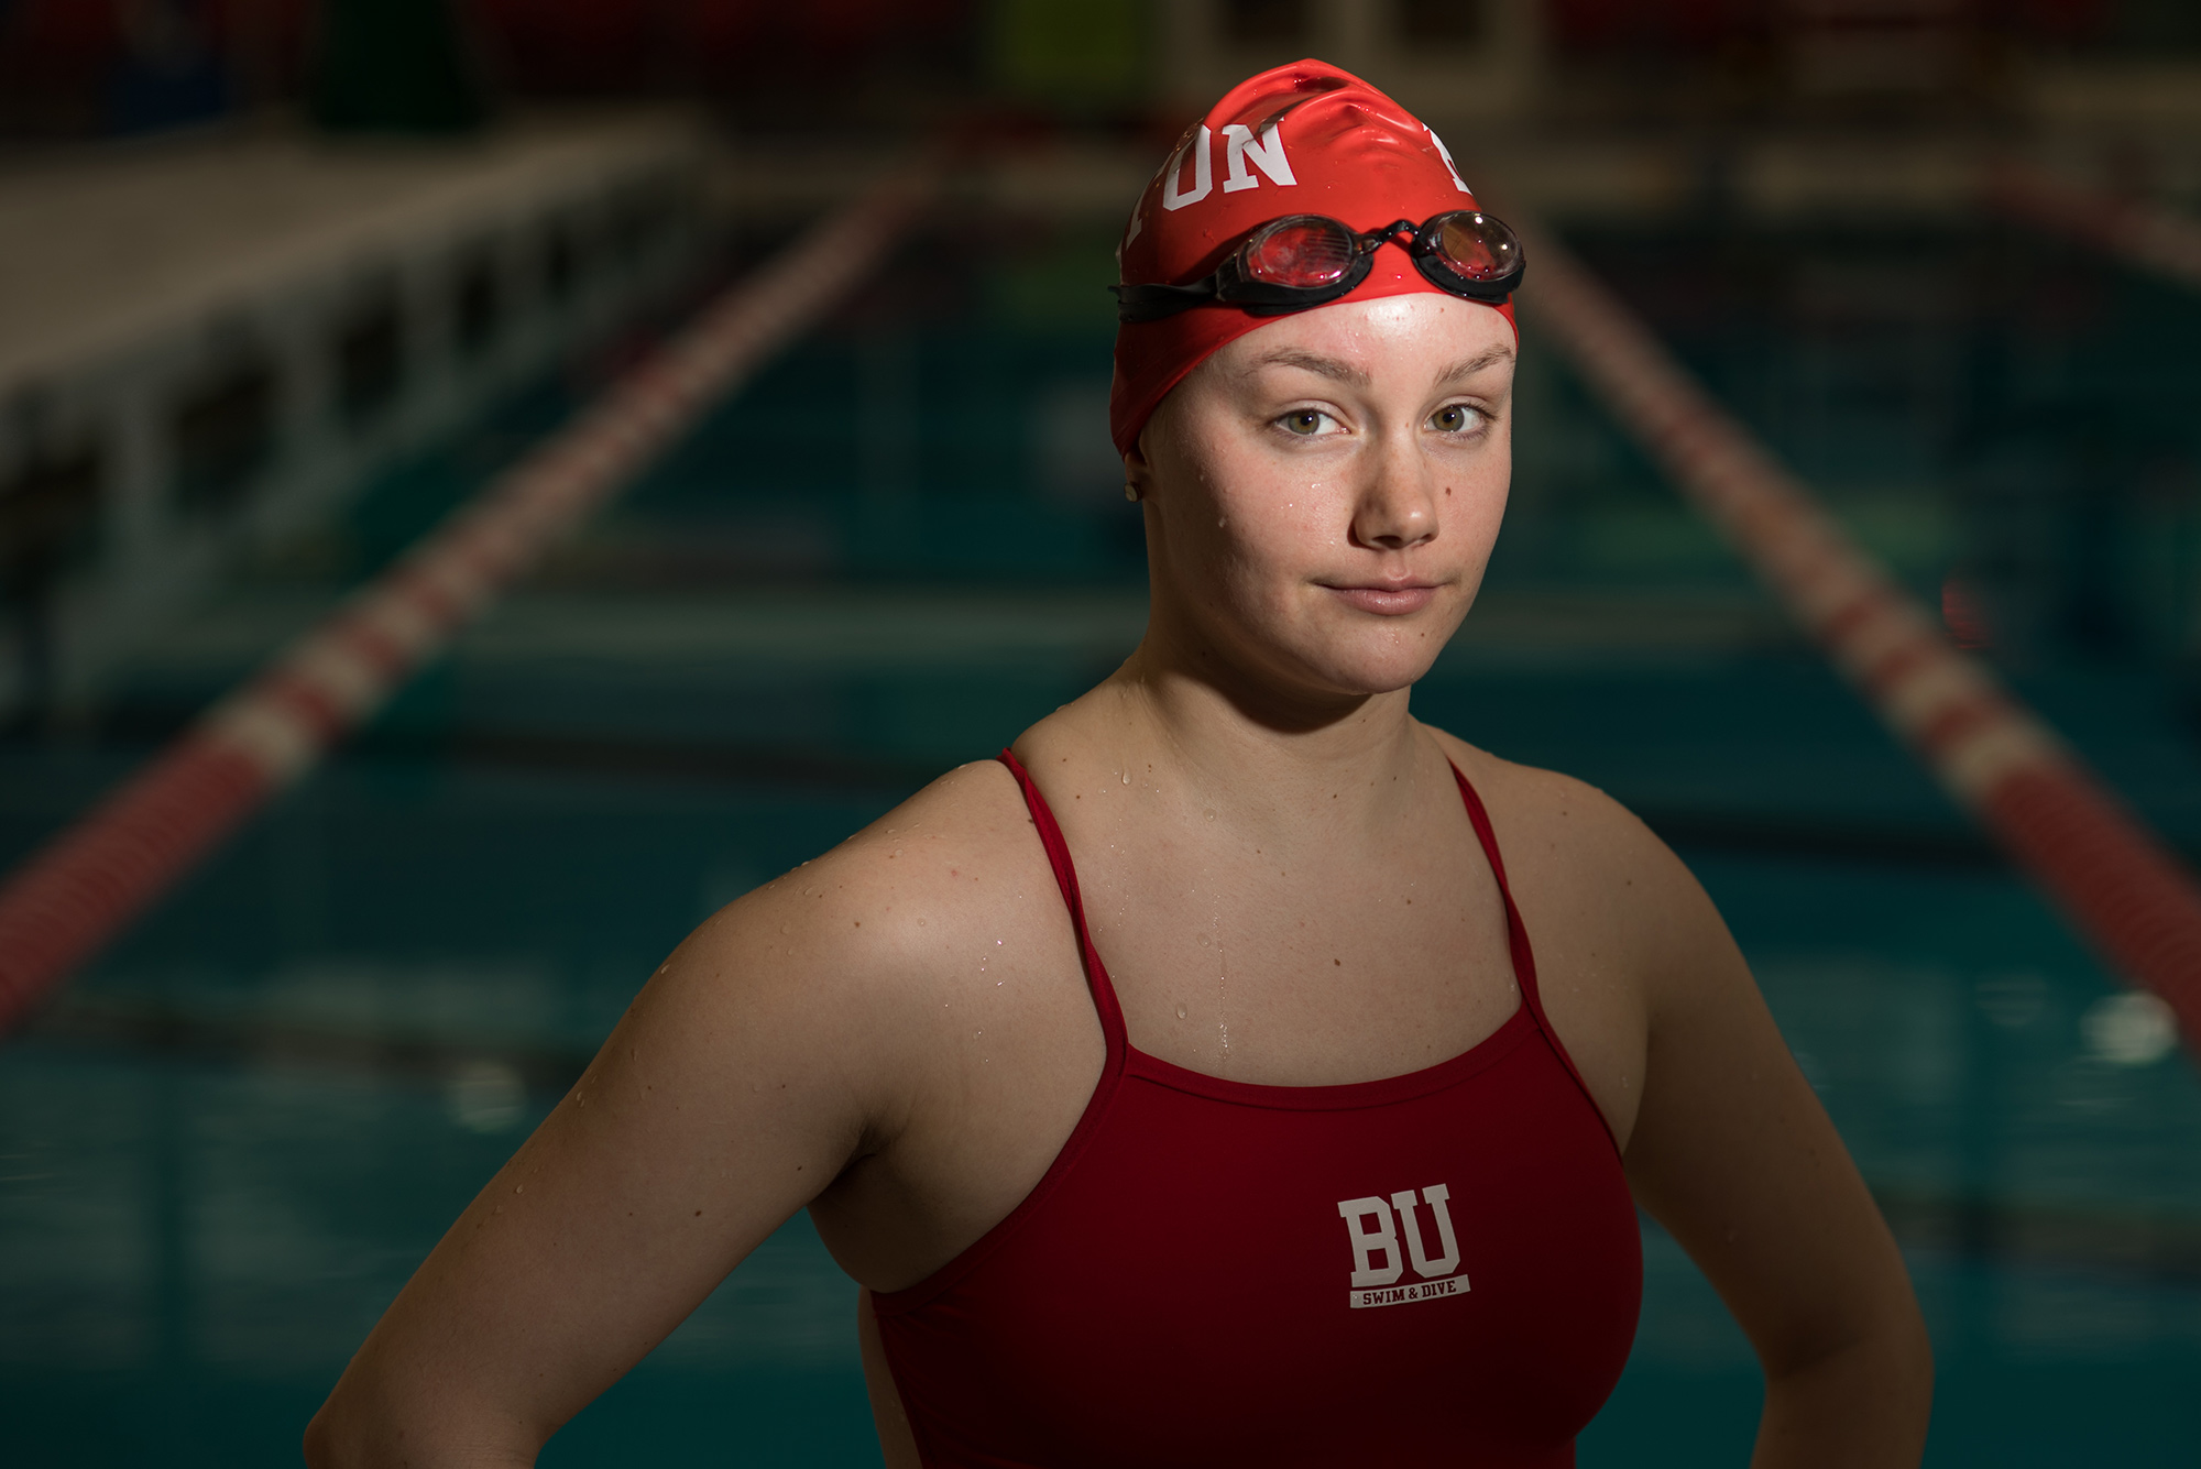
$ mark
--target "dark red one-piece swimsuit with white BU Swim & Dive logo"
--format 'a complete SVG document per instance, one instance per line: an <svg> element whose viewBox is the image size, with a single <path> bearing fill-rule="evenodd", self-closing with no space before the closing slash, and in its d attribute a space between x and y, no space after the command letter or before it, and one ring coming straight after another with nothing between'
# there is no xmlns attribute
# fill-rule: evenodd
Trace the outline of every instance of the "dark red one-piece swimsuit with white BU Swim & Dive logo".
<svg viewBox="0 0 2201 1469"><path fill-rule="evenodd" d="M1620 1155L1536 996L1490 816L1521 1007L1424 1071L1257 1086L1125 1040L1048 803L1107 1062L1045 1177L922 1284L874 1297L924 1465L1574 1462L1635 1335Z"/></svg>

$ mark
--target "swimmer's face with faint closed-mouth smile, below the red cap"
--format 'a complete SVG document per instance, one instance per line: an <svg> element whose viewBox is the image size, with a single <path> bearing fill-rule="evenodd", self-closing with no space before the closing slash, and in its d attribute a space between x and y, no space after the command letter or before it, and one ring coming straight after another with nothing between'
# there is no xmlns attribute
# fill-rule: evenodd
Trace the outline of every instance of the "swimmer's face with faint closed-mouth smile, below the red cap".
<svg viewBox="0 0 2201 1469"><path fill-rule="evenodd" d="M1514 334L1411 292L1279 317L1169 394L1127 471L1158 625L1321 695L1420 680L1505 512Z"/></svg>

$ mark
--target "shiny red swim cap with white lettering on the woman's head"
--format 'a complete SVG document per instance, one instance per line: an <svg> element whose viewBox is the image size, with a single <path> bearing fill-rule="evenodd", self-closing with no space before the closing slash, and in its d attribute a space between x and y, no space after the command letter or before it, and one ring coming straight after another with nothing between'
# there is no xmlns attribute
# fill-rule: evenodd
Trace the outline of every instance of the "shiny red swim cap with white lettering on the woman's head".
<svg viewBox="0 0 2201 1469"><path fill-rule="evenodd" d="M1446 209L1475 209L1475 196L1435 132L1347 70L1292 62L1239 81L1186 130L1138 196L1116 262L1125 286L1184 284L1211 273L1255 227L1288 213L1323 213L1371 231L1391 220L1420 224ZM1409 290L1444 295L1406 251L1384 246L1347 299ZM1494 310L1512 323L1512 301ZM1116 451L1131 453L1184 374L1270 321L1239 306L1195 306L1118 325L1107 405Z"/></svg>

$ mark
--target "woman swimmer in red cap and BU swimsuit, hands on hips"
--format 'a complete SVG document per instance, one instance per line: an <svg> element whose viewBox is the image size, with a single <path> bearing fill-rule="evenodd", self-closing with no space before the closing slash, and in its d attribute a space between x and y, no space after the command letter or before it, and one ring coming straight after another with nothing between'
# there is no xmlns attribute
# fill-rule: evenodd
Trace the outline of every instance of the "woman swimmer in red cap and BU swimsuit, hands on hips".
<svg viewBox="0 0 2201 1469"><path fill-rule="evenodd" d="M889 1465L1569 1465L1640 1203L1756 1346L1756 1465L1915 1465L1902 1260L1712 904L1406 713L1505 504L1516 266L1367 84L1224 97L1125 233L1138 651L698 928L308 1458L533 1462L808 1207Z"/></svg>

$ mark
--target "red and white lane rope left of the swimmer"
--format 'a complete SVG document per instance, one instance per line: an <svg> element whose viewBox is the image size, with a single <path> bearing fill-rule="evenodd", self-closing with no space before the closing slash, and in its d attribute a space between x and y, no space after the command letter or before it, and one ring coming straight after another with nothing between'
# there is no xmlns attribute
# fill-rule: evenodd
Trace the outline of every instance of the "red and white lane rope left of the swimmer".
<svg viewBox="0 0 2201 1469"><path fill-rule="evenodd" d="M674 341L456 508L0 884L0 1034L885 257L931 158L869 189L711 301Z"/></svg>

